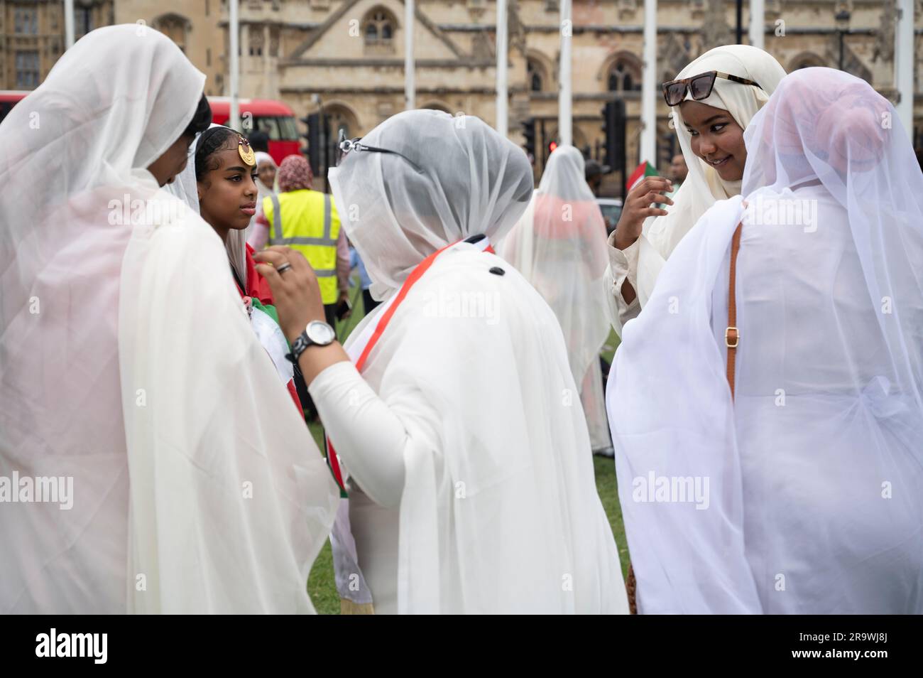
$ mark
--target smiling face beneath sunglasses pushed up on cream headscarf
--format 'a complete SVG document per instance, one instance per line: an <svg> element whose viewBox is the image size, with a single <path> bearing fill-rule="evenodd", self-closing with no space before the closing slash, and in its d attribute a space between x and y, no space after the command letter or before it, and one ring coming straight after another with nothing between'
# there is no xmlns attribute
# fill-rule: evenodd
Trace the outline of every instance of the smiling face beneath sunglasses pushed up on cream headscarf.
<svg viewBox="0 0 923 678"><path fill-rule="evenodd" d="M725 181L744 176L747 148L743 127L722 108L701 102L679 104L680 116L692 135L692 152L714 167Z"/></svg>

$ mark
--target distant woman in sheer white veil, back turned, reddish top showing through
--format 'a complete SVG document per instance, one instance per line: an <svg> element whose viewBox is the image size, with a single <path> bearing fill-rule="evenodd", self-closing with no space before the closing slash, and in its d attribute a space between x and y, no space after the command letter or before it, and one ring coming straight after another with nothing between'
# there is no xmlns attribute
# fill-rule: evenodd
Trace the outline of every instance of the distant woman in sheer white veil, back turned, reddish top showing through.
<svg viewBox="0 0 923 678"><path fill-rule="evenodd" d="M599 351L609 334L602 287L605 222L583 176L583 155L558 146L528 209L503 241L500 256L555 311L568 346L593 452L612 453L605 420Z"/></svg>

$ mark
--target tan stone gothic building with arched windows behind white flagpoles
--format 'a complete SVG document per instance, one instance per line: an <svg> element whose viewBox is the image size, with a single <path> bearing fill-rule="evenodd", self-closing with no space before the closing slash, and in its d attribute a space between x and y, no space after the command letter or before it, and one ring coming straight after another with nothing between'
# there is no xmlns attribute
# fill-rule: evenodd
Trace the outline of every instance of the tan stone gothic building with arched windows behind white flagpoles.
<svg viewBox="0 0 923 678"><path fill-rule="evenodd" d="M923 146L923 0L916 0L915 129ZM63 48L63 3L0 0L0 87L30 89ZM226 94L226 0L75 0L78 36L105 23L144 21L169 35ZM509 0L509 134L536 120L537 153L557 136L560 48L557 0ZM240 93L281 99L299 117L323 107L333 132L361 136L404 105L402 0L239 0ZM416 105L495 122L495 21L491 0L417 0L413 30ZM786 70L842 67L892 99L894 0L765 0L765 47ZM640 137L643 0L573 0L573 141L601 152L601 110L623 99L629 167ZM744 2L744 42L749 2ZM658 2L657 77L736 41L730 0ZM658 162L677 141L658 98Z"/></svg>

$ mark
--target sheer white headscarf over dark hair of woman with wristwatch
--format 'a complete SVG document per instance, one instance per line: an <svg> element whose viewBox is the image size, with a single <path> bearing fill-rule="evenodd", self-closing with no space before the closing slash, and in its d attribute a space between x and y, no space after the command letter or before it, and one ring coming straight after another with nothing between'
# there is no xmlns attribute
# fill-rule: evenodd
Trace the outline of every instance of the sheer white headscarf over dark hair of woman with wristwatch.
<svg viewBox="0 0 923 678"><path fill-rule="evenodd" d="M472 115L405 111L362 142L396 152L351 151L330 186L376 298L438 248L476 234L497 242L532 195L525 154Z"/></svg>

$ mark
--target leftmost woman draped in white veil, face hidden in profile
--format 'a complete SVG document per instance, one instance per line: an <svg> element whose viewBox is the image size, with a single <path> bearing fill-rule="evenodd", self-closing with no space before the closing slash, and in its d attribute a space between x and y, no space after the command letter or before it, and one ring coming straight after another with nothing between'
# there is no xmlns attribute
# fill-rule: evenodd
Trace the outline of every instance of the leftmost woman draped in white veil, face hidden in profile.
<svg viewBox="0 0 923 678"><path fill-rule="evenodd" d="M221 239L161 190L204 81L102 28L0 126L0 475L73 490L0 510L5 612L313 611L335 485Z"/></svg>

